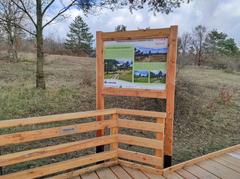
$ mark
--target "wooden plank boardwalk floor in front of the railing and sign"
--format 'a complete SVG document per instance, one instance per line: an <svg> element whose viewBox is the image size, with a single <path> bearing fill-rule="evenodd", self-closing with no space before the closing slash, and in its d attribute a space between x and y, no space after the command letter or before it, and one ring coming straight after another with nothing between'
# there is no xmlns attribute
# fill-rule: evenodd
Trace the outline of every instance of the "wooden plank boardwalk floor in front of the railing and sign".
<svg viewBox="0 0 240 179"><path fill-rule="evenodd" d="M236 148L236 147L235 147ZM217 151L163 170L154 175L126 166L113 166L80 175L74 179L240 179L240 145L228 152Z"/></svg>

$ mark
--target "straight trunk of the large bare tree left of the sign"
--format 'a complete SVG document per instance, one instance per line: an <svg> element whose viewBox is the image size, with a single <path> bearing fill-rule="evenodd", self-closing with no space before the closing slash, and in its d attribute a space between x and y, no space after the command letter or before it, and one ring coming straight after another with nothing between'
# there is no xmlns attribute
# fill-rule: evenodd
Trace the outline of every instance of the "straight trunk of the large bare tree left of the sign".
<svg viewBox="0 0 240 179"><path fill-rule="evenodd" d="M45 89L45 79L44 79L44 52L43 52L43 28L42 28L42 1L36 0L36 15L37 15L37 27L36 27L36 41L37 41L37 73L36 73L36 87Z"/></svg>

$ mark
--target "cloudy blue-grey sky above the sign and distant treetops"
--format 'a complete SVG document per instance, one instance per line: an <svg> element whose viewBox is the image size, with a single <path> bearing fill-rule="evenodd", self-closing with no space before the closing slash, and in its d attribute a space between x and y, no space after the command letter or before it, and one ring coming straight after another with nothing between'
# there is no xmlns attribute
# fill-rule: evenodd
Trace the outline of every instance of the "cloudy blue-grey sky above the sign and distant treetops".
<svg viewBox="0 0 240 179"><path fill-rule="evenodd" d="M91 32L114 31L119 24L127 26L128 30L138 28L163 28L178 25L179 33L191 32L199 25L205 25L209 30L216 28L233 37L240 46L240 0L193 0L182 4L169 15L148 12L146 9L129 12L128 8L103 10L96 15L84 16L81 11L71 9L66 20L54 23L46 29L46 35L54 34L59 39L65 39L68 26L77 15L81 15L89 25Z"/></svg>

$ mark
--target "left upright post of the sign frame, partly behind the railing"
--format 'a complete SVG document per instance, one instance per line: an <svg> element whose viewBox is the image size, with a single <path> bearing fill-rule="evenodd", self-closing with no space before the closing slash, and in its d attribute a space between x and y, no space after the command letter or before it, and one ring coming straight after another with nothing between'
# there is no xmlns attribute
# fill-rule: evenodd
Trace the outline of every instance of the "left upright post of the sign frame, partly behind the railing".
<svg viewBox="0 0 240 179"><path fill-rule="evenodd" d="M103 61L103 40L102 32L97 32L96 34L96 108L98 110L104 109L104 95L103 95L103 75L104 75L104 61ZM97 121L103 121L104 116L97 116ZM104 130L97 131L97 137L104 135ZM103 152L104 146L98 146L96 152Z"/></svg>

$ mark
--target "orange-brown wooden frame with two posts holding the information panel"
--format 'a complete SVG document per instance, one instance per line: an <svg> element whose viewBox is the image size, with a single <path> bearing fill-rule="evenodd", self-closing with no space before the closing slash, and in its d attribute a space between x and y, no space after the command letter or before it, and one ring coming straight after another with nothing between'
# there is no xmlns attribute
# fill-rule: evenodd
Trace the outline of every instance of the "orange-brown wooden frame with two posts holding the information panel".
<svg viewBox="0 0 240 179"><path fill-rule="evenodd" d="M97 32L96 34L96 108L104 109L104 95L134 96L146 98L159 98L166 100L166 124L164 144L164 166L171 166L173 154L173 119L174 96L177 59L177 33L178 26L163 29L148 29L126 32ZM105 88L104 87L104 41L115 40L143 40L154 38L168 38L166 89L129 89L129 88ZM97 120L103 120L99 116ZM97 136L102 136L103 131L97 131ZM98 148L97 151L102 151Z"/></svg>

